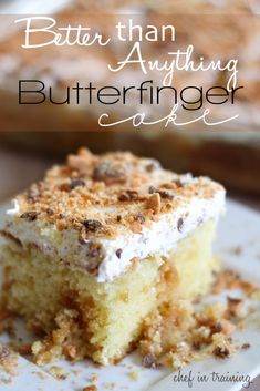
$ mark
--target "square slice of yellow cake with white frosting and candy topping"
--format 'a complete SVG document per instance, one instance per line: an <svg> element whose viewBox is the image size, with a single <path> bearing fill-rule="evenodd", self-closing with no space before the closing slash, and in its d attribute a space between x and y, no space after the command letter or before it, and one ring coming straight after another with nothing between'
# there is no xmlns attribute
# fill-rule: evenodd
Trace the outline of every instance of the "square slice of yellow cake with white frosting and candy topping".
<svg viewBox="0 0 260 391"><path fill-rule="evenodd" d="M205 295L225 189L131 153L87 150L18 195L1 235L3 301L44 332L40 364L116 362L153 311Z"/></svg>

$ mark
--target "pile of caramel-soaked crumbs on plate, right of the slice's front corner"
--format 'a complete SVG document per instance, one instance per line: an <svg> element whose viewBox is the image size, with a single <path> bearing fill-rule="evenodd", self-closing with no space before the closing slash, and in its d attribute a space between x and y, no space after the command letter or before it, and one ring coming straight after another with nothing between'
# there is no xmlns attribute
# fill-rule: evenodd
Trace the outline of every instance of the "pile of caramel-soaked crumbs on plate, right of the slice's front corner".
<svg viewBox="0 0 260 391"><path fill-rule="evenodd" d="M205 305L199 310L186 301L162 307L157 315L146 319L138 346L143 366L163 364L179 370L208 356L222 359L231 356L238 349L231 336L237 330L237 306L241 303L240 299L231 299Z"/></svg>

